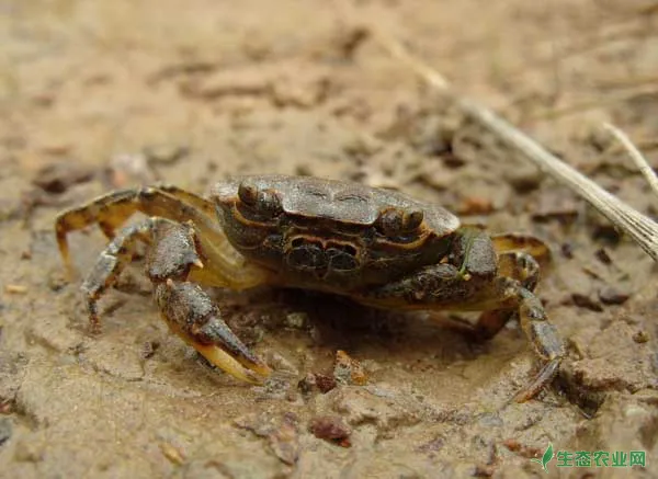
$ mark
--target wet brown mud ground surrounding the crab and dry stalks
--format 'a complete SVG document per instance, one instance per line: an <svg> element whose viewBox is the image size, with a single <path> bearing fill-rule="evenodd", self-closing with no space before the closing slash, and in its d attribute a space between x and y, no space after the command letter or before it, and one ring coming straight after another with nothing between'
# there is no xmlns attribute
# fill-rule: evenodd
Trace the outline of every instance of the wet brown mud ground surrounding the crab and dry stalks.
<svg viewBox="0 0 658 479"><path fill-rule="evenodd" d="M656 197L601 128L620 126L658 166L655 5L353 7L0 2L1 477L658 477L655 264L465 124L360 26L402 38L460 93L655 217ZM217 292L227 321L276 369L246 386L168 332L138 264L90 335L54 240L59 210L112 187L166 181L203 193L265 172L396 187L492 231L545 239L554 261L538 295L568 345L560 379L509 402L535 367L514 324L476 344L426 315ZM71 244L83 273L104 238L91 229ZM356 381L337 370L333 384L339 350L360 363ZM647 465L554 459L546 475L530 458L548 443L646 451Z"/></svg>

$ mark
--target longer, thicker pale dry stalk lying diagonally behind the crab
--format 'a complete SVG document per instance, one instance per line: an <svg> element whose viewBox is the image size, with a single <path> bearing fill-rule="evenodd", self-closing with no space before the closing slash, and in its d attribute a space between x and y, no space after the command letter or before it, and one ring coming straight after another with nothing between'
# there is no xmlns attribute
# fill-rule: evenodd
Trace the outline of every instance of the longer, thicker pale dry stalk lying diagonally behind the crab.
<svg viewBox="0 0 658 479"><path fill-rule="evenodd" d="M370 27L374 38L390 55L407 64L430 85L444 94L451 94L450 83L441 73L416 58L396 39L386 33ZM451 96L455 96L452 94ZM469 100L454 100L462 112L497 135L508 146L520 151L542 171L571 189L589 202L616 227L631 236L654 261L658 262L658 224L626 205L597 183L546 151L538 142L520 132L490 110Z"/></svg>

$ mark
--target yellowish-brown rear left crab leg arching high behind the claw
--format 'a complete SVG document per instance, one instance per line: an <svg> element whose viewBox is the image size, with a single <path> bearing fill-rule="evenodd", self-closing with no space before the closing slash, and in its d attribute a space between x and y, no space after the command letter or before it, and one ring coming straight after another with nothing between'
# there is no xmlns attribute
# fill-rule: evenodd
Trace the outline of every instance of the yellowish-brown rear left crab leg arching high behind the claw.
<svg viewBox="0 0 658 479"><path fill-rule="evenodd" d="M57 217L55 230L64 263L73 277L67 235L69 231L99 224L106 236L113 237L133 214L168 218L178 223L191 221L198 231L204 263L194 272L194 280L209 286L246 289L266 281L266 273L250 263L230 246L217 220L212 216L214 206L207 199L174 186L120 190L93 199L89 204L64 212Z"/></svg>

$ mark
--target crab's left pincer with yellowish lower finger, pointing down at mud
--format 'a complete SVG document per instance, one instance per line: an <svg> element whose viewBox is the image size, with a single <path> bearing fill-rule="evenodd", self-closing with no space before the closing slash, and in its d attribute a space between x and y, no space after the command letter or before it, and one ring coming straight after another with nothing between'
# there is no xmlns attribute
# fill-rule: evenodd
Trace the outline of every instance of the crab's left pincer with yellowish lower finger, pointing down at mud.
<svg viewBox="0 0 658 479"><path fill-rule="evenodd" d="M213 365L243 381L260 384L272 370L222 320L207 294L189 282L158 284L156 301L162 319Z"/></svg>

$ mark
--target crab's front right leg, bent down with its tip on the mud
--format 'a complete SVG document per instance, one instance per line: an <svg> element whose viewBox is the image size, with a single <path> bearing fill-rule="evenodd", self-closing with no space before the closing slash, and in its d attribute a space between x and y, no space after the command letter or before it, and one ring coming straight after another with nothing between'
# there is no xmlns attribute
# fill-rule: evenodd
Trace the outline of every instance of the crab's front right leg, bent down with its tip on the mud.
<svg viewBox="0 0 658 479"><path fill-rule="evenodd" d="M532 399L548 385L565 355L563 341L548 322L542 301L511 277L467 280L454 265L436 264L355 299L398 309L517 310L526 338L544 363L537 376L514 397L518 402Z"/></svg>

